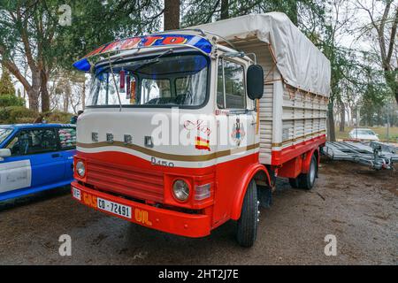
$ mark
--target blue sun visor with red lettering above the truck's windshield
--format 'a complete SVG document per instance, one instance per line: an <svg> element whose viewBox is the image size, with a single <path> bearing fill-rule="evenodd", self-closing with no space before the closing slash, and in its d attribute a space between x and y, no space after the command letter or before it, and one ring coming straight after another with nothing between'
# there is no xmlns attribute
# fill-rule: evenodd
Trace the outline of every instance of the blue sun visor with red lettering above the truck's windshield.
<svg viewBox="0 0 398 283"><path fill-rule="evenodd" d="M210 54L211 52L211 43L201 36L186 34L155 34L130 37L116 42L103 44L101 47L88 53L88 55L75 62L73 66L79 71L88 72L91 68L90 63L88 62L88 58L90 57L122 50L134 50L140 48L161 47L168 45L186 45L194 47L198 50L202 50L204 53L207 54Z"/></svg>

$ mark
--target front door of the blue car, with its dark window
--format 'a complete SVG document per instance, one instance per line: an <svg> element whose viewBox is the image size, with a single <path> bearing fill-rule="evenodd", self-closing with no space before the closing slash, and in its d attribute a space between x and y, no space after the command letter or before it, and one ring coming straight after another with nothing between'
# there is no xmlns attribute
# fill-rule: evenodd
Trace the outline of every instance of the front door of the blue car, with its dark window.
<svg viewBox="0 0 398 283"><path fill-rule="evenodd" d="M30 164L30 187L51 186L63 180L65 159L58 151L55 128L23 129L8 148L11 149L10 158Z"/></svg>

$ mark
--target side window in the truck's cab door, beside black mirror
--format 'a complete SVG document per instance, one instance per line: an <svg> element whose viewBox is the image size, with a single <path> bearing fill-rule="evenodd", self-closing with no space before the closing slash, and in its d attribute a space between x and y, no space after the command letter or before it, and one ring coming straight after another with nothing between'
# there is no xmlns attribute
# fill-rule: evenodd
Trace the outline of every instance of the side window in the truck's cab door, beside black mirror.
<svg viewBox="0 0 398 283"><path fill-rule="evenodd" d="M218 60L217 104L219 109L246 109L244 68L223 58Z"/></svg>

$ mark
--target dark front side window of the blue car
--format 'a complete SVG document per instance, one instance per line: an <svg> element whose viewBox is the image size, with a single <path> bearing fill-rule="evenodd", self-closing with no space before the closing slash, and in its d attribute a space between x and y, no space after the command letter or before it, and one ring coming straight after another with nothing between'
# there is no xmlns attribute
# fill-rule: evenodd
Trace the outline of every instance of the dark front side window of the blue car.
<svg viewBox="0 0 398 283"><path fill-rule="evenodd" d="M12 156L45 153L57 150L57 135L54 129L21 131L7 146Z"/></svg>

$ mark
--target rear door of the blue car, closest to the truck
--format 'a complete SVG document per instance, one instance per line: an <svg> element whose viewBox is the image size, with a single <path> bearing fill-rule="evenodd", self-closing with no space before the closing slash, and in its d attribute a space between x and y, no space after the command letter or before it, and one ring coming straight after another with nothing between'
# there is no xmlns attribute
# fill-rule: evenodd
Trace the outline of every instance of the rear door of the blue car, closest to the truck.
<svg viewBox="0 0 398 283"><path fill-rule="evenodd" d="M64 180L73 180L73 157L76 154L76 127L57 128L59 149L65 160Z"/></svg>

